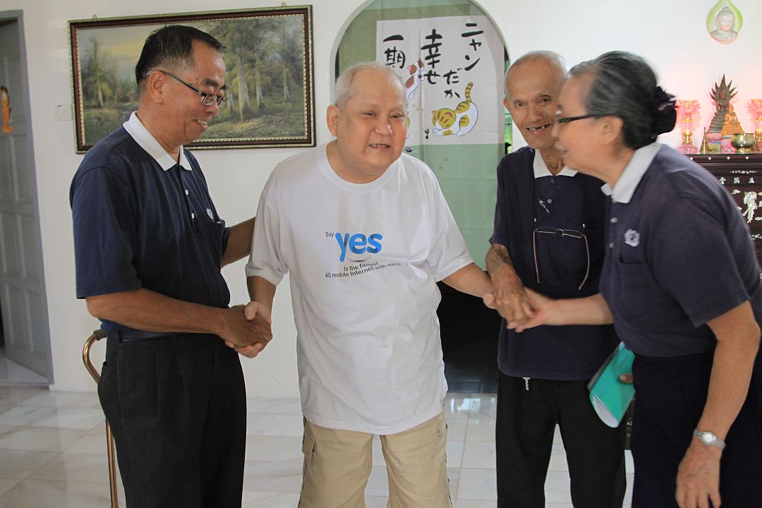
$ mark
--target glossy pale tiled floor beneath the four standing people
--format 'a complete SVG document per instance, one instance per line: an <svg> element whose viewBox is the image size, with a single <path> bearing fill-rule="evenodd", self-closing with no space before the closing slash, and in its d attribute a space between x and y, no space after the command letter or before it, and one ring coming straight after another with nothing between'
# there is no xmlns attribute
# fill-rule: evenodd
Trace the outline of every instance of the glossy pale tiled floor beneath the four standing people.
<svg viewBox="0 0 762 508"><path fill-rule="evenodd" d="M495 397L445 399L447 465L456 508L495 507ZM243 506L294 508L301 484L299 401L248 399ZM548 508L571 508L560 438L546 483ZM105 426L94 394L0 386L0 508L104 508L109 505ZM386 506L386 468L374 442L368 508ZM628 483L632 458L627 455ZM629 506L629 488L626 506ZM124 505L120 491L120 506Z"/></svg>

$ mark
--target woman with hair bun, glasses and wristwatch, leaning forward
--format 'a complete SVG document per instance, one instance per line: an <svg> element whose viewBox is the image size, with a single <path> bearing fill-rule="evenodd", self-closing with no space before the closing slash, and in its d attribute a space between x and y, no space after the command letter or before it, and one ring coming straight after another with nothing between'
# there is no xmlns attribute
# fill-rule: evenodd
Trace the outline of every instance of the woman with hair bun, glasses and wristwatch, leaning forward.
<svg viewBox="0 0 762 508"><path fill-rule="evenodd" d="M509 323L604 324L636 359L632 508L762 506L760 269L715 177L656 138L674 97L639 56L571 69L553 127L565 164L610 195L600 294Z"/></svg>

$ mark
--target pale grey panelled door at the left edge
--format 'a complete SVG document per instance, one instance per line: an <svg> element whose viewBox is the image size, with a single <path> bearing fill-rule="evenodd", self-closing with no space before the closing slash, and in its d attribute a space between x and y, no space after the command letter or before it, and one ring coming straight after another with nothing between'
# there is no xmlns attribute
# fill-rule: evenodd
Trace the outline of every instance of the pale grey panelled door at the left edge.
<svg viewBox="0 0 762 508"><path fill-rule="evenodd" d="M0 85L8 89L13 128L12 133L0 129L0 308L5 353L50 379L50 336L37 190L28 150L25 81L18 22L0 19Z"/></svg>

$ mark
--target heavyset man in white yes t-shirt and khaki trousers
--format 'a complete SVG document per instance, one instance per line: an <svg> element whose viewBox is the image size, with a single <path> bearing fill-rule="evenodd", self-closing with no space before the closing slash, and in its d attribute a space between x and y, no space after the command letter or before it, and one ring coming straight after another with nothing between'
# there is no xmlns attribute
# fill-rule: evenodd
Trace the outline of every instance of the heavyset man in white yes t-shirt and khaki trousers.
<svg viewBox="0 0 762 508"><path fill-rule="evenodd" d="M480 297L491 283L431 169L402 154L407 102L391 69L347 69L327 120L336 139L267 181L246 267L251 299L267 308L290 273L305 416L299 506L364 506L379 435L390 506L450 508L437 281Z"/></svg>

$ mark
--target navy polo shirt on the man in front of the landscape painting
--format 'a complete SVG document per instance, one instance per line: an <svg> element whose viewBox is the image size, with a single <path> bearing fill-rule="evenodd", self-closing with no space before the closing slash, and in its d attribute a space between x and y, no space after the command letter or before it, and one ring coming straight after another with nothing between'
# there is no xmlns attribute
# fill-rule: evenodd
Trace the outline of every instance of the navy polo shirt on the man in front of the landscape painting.
<svg viewBox="0 0 762 508"><path fill-rule="evenodd" d="M85 155L69 193L77 298L146 288L228 306L220 266L229 230L198 162L181 153L178 165L133 113ZM102 327L130 329L110 321Z"/></svg>

